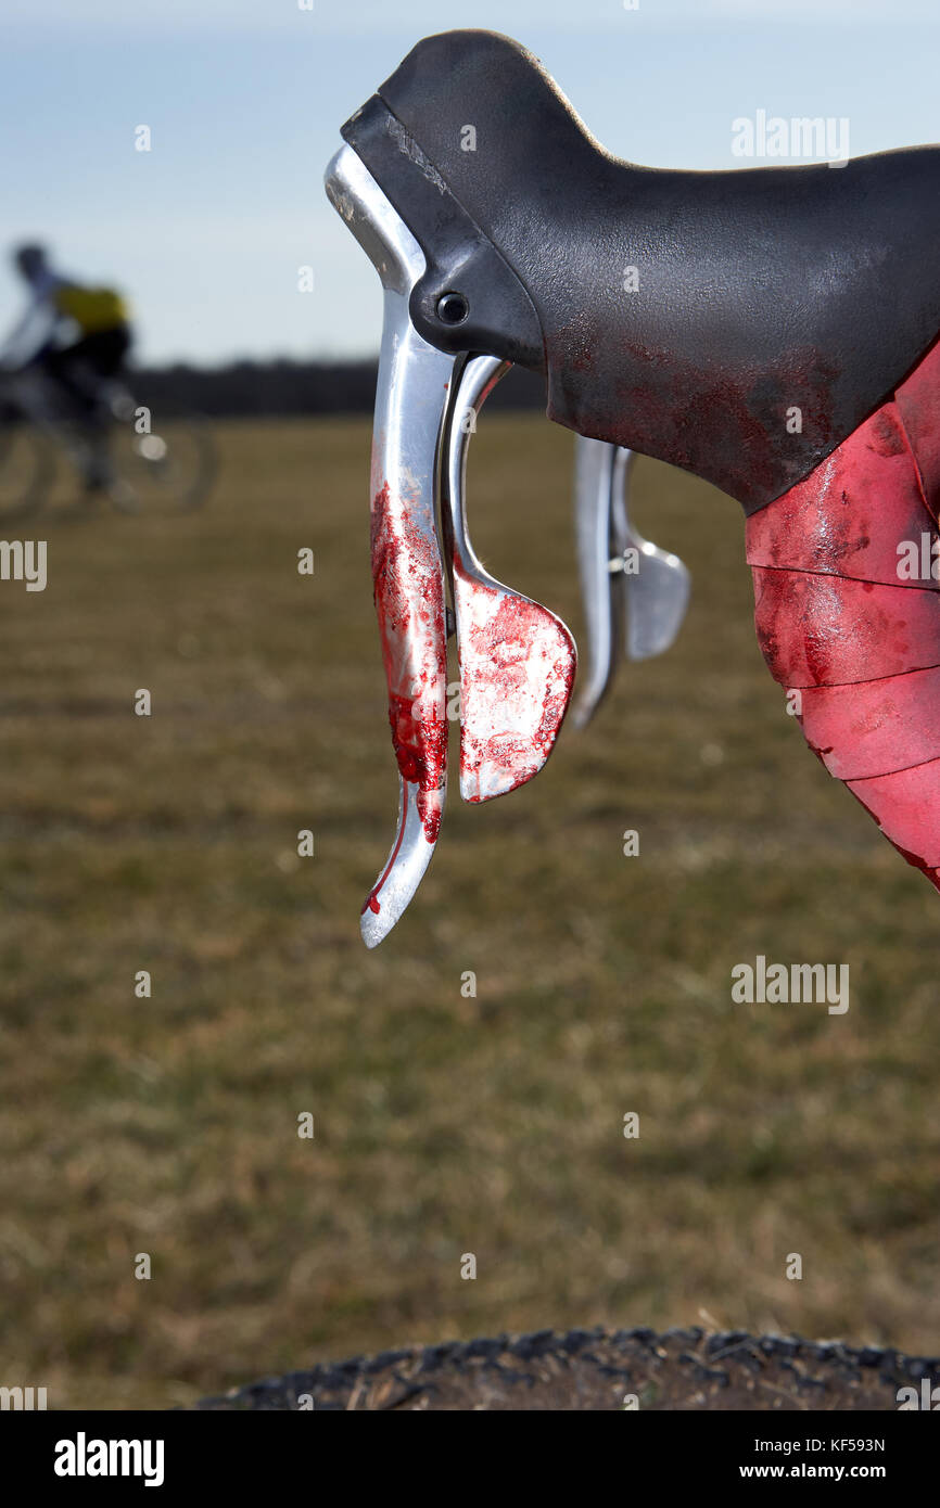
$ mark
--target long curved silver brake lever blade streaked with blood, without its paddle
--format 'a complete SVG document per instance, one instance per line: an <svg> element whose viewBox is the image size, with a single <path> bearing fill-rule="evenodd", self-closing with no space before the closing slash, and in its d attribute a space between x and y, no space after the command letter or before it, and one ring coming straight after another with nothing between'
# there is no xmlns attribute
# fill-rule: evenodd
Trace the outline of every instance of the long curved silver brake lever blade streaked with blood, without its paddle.
<svg viewBox="0 0 940 1508"><path fill-rule="evenodd" d="M454 369L415 330L424 253L350 146L326 192L385 290L371 463L373 582L398 763L398 831L362 908L362 938L391 932L432 861L447 795L447 624L435 517L438 445Z"/></svg>

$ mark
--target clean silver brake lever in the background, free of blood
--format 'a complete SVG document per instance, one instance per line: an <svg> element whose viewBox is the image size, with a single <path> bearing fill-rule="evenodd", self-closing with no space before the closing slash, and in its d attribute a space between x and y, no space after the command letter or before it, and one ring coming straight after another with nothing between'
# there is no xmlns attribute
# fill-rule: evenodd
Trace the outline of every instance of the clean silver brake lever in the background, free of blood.
<svg viewBox="0 0 940 1508"><path fill-rule="evenodd" d="M644 540L629 514L634 452L575 440L575 541L587 654L572 707L584 728L610 691L622 654L653 659L674 642L691 590L677 555Z"/></svg>

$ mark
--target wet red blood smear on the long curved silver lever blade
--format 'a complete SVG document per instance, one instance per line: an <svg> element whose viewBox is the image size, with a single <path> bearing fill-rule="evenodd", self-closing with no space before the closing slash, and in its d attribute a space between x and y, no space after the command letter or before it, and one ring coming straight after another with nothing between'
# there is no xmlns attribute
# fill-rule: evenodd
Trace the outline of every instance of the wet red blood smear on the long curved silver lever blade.
<svg viewBox="0 0 940 1508"><path fill-rule="evenodd" d="M395 759L401 778L418 786L424 835L435 843L447 771L447 635L441 564L415 522L418 504L394 498L388 483L376 493L373 581Z"/></svg>

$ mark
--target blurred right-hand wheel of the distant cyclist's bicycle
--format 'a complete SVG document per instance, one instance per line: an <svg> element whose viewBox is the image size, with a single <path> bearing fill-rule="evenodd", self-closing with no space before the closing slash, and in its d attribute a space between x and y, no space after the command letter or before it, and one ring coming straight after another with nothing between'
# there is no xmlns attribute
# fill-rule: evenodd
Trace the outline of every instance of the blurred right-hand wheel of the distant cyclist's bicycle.
<svg viewBox="0 0 940 1508"><path fill-rule="evenodd" d="M115 425L112 458L112 498L122 513L192 513L208 498L219 466L213 433L198 415L167 419L149 434Z"/></svg>

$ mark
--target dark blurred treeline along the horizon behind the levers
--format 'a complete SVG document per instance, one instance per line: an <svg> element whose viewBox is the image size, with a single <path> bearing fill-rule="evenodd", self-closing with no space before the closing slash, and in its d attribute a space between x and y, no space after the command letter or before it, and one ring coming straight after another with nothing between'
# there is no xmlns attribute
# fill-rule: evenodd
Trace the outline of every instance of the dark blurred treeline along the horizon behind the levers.
<svg viewBox="0 0 940 1508"><path fill-rule="evenodd" d="M229 366L154 366L133 377L134 395L151 409L195 409L214 416L371 413L376 362L232 362ZM513 368L487 409L542 409L545 385Z"/></svg>

